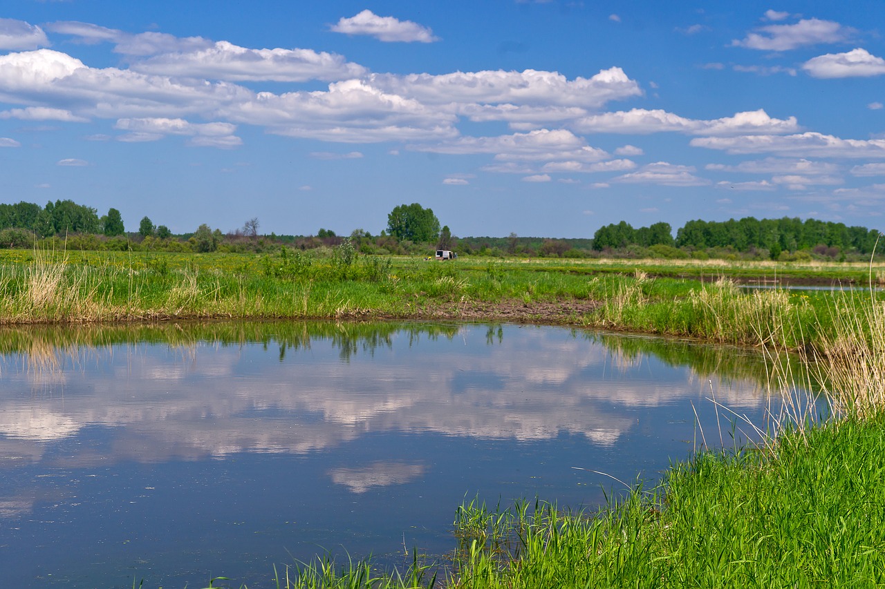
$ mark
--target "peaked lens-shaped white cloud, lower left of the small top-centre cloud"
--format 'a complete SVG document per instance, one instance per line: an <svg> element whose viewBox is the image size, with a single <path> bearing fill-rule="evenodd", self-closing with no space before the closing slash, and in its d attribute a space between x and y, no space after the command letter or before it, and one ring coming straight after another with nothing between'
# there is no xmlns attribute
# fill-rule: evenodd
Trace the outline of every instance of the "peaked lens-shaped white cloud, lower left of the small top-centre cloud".
<svg viewBox="0 0 885 589"><path fill-rule="evenodd" d="M345 80L366 73L340 55L304 49L253 50L225 41L189 52L165 53L132 65L136 72L210 80Z"/></svg>

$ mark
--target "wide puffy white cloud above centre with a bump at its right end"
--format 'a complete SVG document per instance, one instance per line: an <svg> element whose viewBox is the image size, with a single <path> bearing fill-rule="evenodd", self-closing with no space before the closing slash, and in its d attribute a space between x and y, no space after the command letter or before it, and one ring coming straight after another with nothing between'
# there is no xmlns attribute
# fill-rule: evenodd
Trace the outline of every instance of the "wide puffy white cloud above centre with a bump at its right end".
<svg viewBox="0 0 885 589"><path fill-rule="evenodd" d="M642 95L635 80L620 67L601 70L590 78L567 80L557 72L503 70L455 72L441 75L373 73L368 83L384 92L427 104L508 103L599 108L612 100ZM469 114L469 113L468 113Z"/></svg>

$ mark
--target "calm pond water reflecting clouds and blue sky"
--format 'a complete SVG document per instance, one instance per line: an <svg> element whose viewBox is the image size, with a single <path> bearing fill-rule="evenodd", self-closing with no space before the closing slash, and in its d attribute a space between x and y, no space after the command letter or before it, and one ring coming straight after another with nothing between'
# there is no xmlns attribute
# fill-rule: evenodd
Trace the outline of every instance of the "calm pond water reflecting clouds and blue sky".
<svg viewBox="0 0 885 589"><path fill-rule="evenodd" d="M19 587L254 588L326 552L444 555L462 501L596 506L621 486L592 470L654 481L700 443L695 411L718 444L712 393L766 407L751 353L555 327L7 329L0 353Z"/></svg>

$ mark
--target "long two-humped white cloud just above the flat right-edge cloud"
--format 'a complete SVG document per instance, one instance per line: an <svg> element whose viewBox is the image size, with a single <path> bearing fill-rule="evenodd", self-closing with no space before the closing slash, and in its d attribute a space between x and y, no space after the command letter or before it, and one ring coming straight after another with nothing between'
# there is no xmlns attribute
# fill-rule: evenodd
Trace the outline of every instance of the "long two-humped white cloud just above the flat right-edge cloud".
<svg viewBox="0 0 885 589"><path fill-rule="evenodd" d="M798 130L796 117L772 119L761 109L712 120L686 119L662 110L633 109L592 115L577 120L573 126L584 133L624 134L671 131L698 135L734 135L795 133Z"/></svg>

